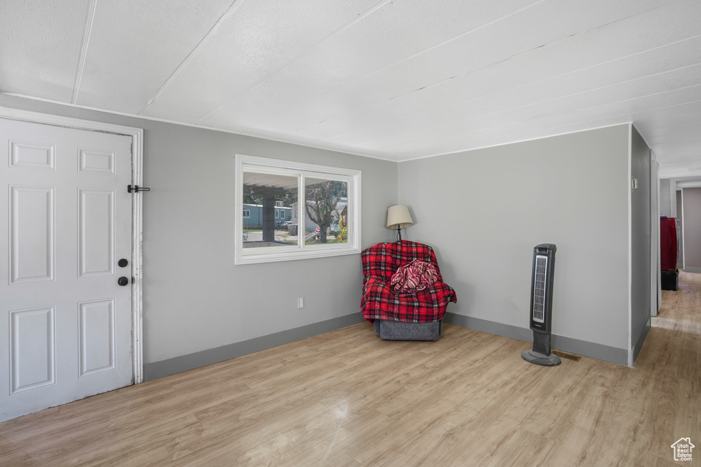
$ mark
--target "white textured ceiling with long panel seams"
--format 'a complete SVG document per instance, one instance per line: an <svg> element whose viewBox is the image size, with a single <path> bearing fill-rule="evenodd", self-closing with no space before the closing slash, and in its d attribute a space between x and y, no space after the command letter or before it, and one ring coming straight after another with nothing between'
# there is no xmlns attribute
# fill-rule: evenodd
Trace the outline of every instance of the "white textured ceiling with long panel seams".
<svg viewBox="0 0 701 467"><path fill-rule="evenodd" d="M699 0L3 0L0 92L408 160L634 122L701 174Z"/></svg>

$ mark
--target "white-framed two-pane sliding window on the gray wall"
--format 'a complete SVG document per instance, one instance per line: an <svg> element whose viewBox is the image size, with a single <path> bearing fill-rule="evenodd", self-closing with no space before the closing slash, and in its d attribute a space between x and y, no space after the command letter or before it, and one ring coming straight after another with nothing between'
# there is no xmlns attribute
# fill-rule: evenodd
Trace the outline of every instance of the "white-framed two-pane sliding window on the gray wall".
<svg viewBox="0 0 701 467"><path fill-rule="evenodd" d="M255 223L237 216L237 265L360 253L359 170L237 154L235 203L261 206ZM294 216L276 231L282 208Z"/></svg>

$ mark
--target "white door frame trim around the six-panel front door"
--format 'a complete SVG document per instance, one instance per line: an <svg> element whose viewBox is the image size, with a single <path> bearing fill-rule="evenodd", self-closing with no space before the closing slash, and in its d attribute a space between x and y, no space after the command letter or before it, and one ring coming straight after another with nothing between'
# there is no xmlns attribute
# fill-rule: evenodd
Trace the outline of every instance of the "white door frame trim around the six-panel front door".
<svg viewBox="0 0 701 467"><path fill-rule="evenodd" d="M41 123L57 127L75 128L111 134L123 134L132 139L132 185L143 185L144 168L144 130L136 127L114 125L112 123L81 120L79 118L51 115L11 109L0 106L0 118L20 120L29 123ZM126 189L126 187L124 187ZM140 193L132 196L132 384L144 380L144 344L143 344L143 278L142 278L142 242L143 212Z"/></svg>

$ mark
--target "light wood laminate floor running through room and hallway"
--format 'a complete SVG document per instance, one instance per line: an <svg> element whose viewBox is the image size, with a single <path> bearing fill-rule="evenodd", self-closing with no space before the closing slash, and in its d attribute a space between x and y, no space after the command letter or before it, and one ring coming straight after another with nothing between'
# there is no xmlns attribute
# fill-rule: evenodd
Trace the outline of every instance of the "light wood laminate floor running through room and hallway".
<svg viewBox="0 0 701 467"><path fill-rule="evenodd" d="M1 466L701 465L701 274L681 274L634 368L543 368L526 342L367 323L0 424Z"/></svg>

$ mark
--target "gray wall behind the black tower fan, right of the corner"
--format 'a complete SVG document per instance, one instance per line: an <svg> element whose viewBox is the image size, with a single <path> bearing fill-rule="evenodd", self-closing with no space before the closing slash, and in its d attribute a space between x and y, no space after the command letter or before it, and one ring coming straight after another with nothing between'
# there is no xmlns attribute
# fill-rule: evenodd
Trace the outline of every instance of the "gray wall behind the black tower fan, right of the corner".
<svg viewBox="0 0 701 467"><path fill-rule="evenodd" d="M400 162L404 238L434 246L448 312L528 335L533 247L554 243L552 333L627 352L628 144L619 125Z"/></svg>

